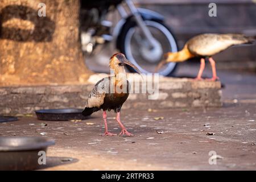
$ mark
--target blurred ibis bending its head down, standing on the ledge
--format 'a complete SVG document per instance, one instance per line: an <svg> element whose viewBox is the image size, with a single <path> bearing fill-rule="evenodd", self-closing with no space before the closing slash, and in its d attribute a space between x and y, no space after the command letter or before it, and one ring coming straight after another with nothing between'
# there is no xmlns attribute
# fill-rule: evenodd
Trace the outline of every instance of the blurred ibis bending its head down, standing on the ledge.
<svg viewBox="0 0 256 182"><path fill-rule="evenodd" d="M205 59L208 58L212 67L212 78L218 79L215 67L215 61L212 56L225 49L240 44L253 43L256 36L245 36L243 34L201 34L193 37L185 43L184 48L179 52L168 52L164 55L164 60L158 64L158 71L164 64L170 62L183 62L192 57L200 57L201 65L196 80L201 80L205 67Z"/></svg>

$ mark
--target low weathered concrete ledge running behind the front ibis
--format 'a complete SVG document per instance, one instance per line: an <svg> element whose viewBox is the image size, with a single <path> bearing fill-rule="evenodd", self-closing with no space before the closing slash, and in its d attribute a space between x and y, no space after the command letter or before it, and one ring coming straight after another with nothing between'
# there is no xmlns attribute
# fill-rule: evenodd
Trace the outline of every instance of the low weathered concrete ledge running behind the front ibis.
<svg viewBox="0 0 256 182"><path fill-rule="evenodd" d="M13 86L0 88L0 114L34 113L37 109L84 107L95 82L105 74L92 75L88 84ZM129 80L138 78L129 75ZM188 78L159 78L158 100L148 94L130 94L123 109L160 109L172 107L220 107L221 84Z"/></svg>

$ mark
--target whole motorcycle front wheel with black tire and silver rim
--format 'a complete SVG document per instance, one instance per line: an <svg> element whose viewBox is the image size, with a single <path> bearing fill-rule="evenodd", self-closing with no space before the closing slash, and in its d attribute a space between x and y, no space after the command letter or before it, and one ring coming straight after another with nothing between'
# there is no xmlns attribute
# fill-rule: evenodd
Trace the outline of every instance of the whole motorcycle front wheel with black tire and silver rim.
<svg viewBox="0 0 256 182"><path fill-rule="evenodd" d="M123 27L118 48L142 73L154 73L156 66L163 59L163 54L177 52L178 48L176 39L166 24L158 20L144 20L144 23L156 40L155 49L147 48L146 39L143 38L141 28L137 26L135 20L131 20ZM173 76L176 66L177 63L166 64L158 73L163 76ZM133 68L127 68L135 72Z"/></svg>

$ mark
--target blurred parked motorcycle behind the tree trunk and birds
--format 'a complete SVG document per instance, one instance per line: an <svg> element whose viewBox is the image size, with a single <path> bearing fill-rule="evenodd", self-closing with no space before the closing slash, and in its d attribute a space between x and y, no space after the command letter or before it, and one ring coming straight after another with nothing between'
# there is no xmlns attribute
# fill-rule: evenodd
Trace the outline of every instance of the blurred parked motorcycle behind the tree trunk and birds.
<svg viewBox="0 0 256 182"><path fill-rule="evenodd" d="M81 1L85 10L82 20L81 44L86 56L92 56L99 44L115 43L115 49L124 53L142 73L154 73L156 65L166 52L177 52L177 43L164 17L155 11L135 7L131 0ZM117 9L121 19L115 26L106 16ZM163 76L174 74L176 63L165 65L158 72ZM129 71L135 72L131 67Z"/></svg>

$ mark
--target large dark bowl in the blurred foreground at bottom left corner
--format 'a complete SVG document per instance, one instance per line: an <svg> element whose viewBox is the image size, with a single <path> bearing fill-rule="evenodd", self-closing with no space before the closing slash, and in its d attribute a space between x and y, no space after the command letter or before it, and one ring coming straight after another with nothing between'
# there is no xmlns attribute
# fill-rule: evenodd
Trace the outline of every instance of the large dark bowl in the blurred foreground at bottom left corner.
<svg viewBox="0 0 256 182"><path fill-rule="evenodd" d="M55 144L46 137L0 137L0 170L32 170L39 167L39 151Z"/></svg>

